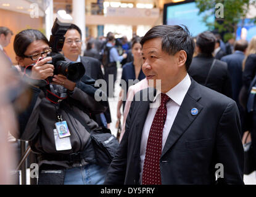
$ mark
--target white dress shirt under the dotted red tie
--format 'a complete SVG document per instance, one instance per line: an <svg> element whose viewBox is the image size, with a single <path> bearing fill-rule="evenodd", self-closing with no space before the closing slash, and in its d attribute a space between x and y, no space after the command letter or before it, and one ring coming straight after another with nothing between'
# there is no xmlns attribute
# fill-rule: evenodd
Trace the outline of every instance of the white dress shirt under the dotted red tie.
<svg viewBox="0 0 256 197"><path fill-rule="evenodd" d="M171 126L173 125L173 122L176 118L176 115L180 109L181 103L183 102L183 99L188 92L189 86L191 85L191 79L189 78L189 75L187 74L185 78L178 83L175 87L173 87L171 90L169 90L166 94L171 99L167 102L167 118L165 121L165 125L163 126L163 139L162 139L162 150L165 145L165 142L167 140L167 137L169 135L169 132L171 130ZM144 159L146 155L146 147L147 147L147 139L149 137L149 131L151 129L151 124L153 123L153 119L155 116L155 113L157 113L158 107L155 107L155 104L158 106L161 103L160 98L161 92L157 90L157 95L154 98L153 105L154 107L149 108L149 113L147 113L147 118L144 123L143 131L142 131L142 137L141 137L141 172L140 172L140 183L142 183L142 170L143 170L143 164Z"/></svg>

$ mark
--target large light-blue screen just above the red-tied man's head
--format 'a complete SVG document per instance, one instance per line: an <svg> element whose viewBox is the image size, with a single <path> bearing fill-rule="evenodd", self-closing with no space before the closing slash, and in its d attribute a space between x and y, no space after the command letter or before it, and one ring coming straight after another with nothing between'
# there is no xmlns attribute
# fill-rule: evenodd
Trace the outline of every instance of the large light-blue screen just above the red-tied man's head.
<svg viewBox="0 0 256 197"><path fill-rule="evenodd" d="M203 17L206 12L198 15L199 9L196 7L196 2L188 2L184 4L171 5L167 7L166 24L167 25L186 25L192 36L209 28L203 22ZM215 16L209 17L207 22L214 22Z"/></svg>

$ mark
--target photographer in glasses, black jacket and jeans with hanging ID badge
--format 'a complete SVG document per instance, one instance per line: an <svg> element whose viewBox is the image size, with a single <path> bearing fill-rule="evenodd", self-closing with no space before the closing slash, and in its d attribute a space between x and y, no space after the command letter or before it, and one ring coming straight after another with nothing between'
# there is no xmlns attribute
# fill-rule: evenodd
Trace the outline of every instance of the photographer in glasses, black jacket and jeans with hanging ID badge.
<svg viewBox="0 0 256 197"><path fill-rule="evenodd" d="M49 42L38 30L17 34L14 50L33 93L30 106L19 115L20 133L15 137L29 141L39 155L38 184L102 184L107 169L97 164L90 134L75 118L81 116L89 129L97 129L89 113L102 113L107 105L94 99L94 80L85 74L75 83L54 74L54 65L47 63L52 58L46 57ZM52 82L47 83L49 77ZM69 132L65 136L63 126Z"/></svg>

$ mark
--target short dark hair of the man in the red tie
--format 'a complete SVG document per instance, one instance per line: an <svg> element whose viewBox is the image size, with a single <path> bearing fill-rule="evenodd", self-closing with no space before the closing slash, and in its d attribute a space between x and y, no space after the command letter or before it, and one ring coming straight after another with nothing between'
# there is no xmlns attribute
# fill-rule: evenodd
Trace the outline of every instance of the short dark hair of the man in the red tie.
<svg viewBox="0 0 256 197"><path fill-rule="evenodd" d="M162 38L162 50L169 55L175 55L178 51L184 50L187 54L186 70L192 62L194 54L194 41L186 26L179 25L158 25L147 31L141 39L141 46L153 38Z"/></svg>

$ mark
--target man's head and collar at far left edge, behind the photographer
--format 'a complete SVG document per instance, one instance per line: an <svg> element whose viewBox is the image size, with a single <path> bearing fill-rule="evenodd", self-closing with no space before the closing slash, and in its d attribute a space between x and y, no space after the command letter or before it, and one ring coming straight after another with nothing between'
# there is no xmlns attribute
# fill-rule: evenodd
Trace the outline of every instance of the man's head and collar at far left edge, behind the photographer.
<svg viewBox="0 0 256 197"><path fill-rule="evenodd" d="M10 62L12 62L12 60L10 60L10 57L7 55L6 50L4 50L4 47L7 47L10 44L10 39L12 38L13 34L14 33L12 33L9 28L5 26L0 26L0 50L4 52Z"/></svg>

